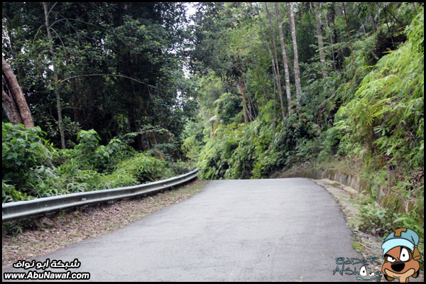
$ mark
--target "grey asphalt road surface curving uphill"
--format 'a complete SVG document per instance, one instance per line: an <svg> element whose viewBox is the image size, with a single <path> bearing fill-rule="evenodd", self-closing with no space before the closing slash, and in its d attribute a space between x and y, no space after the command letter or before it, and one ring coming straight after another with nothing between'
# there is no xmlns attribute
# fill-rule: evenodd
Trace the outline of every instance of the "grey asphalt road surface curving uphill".
<svg viewBox="0 0 426 284"><path fill-rule="evenodd" d="M310 180L213 180L188 200L35 260L78 258L70 271L94 281L356 281L333 275L337 257L361 258L352 239L339 204Z"/></svg>

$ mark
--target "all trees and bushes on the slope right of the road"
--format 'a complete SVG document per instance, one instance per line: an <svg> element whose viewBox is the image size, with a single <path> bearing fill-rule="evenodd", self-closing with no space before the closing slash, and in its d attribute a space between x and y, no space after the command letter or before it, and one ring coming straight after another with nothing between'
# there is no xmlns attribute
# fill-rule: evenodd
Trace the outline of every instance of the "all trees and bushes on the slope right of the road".
<svg viewBox="0 0 426 284"><path fill-rule="evenodd" d="M207 67L197 73L200 112L187 124L183 143L202 178L279 177L293 168L360 175L371 191L364 192L368 198L361 202L356 228L384 238L397 227L409 227L420 235L422 252L423 6L298 3L300 94L288 4L276 10L285 15L288 58L277 56L280 21L273 4L210 8L200 20L200 30L209 35L199 50ZM216 53L207 53L216 30L223 40ZM220 65L223 61L229 64ZM285 99L285 61L290 100Z"/></svg>

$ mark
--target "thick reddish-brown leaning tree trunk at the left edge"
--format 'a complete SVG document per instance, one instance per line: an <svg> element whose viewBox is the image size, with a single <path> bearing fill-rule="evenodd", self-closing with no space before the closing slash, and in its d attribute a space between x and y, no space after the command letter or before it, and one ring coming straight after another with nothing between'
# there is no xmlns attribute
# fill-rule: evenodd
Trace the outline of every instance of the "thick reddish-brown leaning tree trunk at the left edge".
<svg viewBox="0 0 426 284"><path fill-rule="evenodd" d="M26 128L34 127L30 108L26 103L18 80L12 68L1 56L1 105L12 124L23 124Z"/></svg>

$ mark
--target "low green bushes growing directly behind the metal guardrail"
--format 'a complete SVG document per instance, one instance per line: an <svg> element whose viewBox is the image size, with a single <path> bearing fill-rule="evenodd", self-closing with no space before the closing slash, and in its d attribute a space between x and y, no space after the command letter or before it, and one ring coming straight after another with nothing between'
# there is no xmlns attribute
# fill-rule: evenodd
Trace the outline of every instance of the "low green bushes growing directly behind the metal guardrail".
<svg viewBox="0 0 426 284"><path fill-rule="evenodd" d="M80 131L77 146L65 150L46 144L44 134L39 127L3 124L3 202L137 185L187 170L182 162L129 151L119 139L99 146L93 129Z"/></svg>

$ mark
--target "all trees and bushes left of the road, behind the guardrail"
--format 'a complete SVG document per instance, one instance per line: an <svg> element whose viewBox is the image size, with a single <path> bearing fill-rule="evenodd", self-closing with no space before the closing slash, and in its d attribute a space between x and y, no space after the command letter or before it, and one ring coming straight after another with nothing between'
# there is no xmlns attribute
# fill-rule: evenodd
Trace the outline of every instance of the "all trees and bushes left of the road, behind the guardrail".
<svg viewBox="0 0 426 284"><path fill-rule="evenodd" d="M184 4L2 8L3 202L188 170L181 136L197 106L182 70Z"/></svg>

